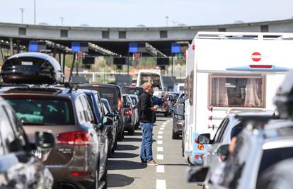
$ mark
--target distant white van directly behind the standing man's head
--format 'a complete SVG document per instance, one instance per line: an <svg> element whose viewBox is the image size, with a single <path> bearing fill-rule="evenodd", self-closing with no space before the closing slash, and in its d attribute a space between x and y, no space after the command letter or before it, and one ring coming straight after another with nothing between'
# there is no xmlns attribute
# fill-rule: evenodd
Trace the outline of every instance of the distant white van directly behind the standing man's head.
<svg viewBox="0 0 293 189"><path fill-rule="evenodd" d="M137 75L137 86L142 86L145 82L151 82L153 84L154 93L165 91L163 77L159 69L140 69Z"/></svg>

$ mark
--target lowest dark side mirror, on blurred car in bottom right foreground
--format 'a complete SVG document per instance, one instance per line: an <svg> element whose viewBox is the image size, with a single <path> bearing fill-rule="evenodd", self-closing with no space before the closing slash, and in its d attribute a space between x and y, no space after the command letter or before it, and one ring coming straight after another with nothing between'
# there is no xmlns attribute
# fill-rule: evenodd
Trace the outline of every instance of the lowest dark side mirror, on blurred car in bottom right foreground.
<svg viewBox="0 0 293 189"><path fill-rule="evenodd" d="M188 168L187 178L188 183L202 184L207 178L207 173L209 173L209 167L205 166L195 166Z"/></svg>

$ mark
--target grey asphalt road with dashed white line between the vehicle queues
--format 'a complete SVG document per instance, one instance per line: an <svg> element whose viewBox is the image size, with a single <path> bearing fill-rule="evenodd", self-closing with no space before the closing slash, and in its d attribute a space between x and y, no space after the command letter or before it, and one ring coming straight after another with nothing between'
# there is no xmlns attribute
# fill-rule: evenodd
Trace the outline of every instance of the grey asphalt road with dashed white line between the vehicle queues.
<svg viewBox="0 0 293 189"><path fill-rule="evenodd" d="M172 118L157 118L153 131L153 154L159 166L140 163L141 130L137 130L134 136L126 135L122 142L118 142L115 154L108 160L108 188L199 188L185 181L188 164L181 156L181 140L172 139L171 132Z"/></svg>

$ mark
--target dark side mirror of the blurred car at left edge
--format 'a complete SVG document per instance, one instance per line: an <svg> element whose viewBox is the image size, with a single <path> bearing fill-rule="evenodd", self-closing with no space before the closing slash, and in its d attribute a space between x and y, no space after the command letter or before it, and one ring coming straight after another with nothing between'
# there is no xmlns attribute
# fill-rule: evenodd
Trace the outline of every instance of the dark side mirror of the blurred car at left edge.
<svg viewBox="0 0 293 189"><path fill-rule="evenodd" d="M50 132L35 132L35 147L40 151L47 151L54 148L55 137Z"/></svg>

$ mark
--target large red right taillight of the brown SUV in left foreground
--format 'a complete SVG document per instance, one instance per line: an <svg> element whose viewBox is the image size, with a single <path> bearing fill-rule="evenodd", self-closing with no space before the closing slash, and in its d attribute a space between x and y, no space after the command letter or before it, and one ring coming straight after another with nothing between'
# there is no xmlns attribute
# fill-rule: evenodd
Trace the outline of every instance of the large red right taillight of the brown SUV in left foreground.
<svg viewBox="0 0 293 189"><path fill-rule="evenodd" d="M57 135L57 144L89 145L88 134L84 131L63 132Z"/></svg>

